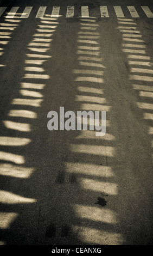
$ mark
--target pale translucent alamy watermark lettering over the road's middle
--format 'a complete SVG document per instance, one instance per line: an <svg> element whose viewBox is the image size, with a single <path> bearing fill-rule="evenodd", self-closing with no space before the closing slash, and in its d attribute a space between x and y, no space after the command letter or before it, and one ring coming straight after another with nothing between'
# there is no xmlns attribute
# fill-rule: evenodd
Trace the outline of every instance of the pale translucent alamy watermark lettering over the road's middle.
<svg viewBox="0 0 153 256"><path fill-rule="evenodd" d="M106 134L106 111L77 111L75 115L73 111L65 112L64 107L60 107L60 116L56 111L50 111L47 117L51 118L47 123L49 131L96 130L95 136L101 137Z"/></svg>

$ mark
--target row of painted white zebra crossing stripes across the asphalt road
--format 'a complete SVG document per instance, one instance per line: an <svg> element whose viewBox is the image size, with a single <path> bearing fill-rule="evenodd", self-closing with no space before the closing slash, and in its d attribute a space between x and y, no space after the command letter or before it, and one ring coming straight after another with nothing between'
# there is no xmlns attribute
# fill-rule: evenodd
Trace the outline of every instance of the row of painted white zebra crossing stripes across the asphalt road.
<svg viewBox="0 0 153 256"><path fill-rule="evenodd" d="M11 7L9 10L8 7L0 7L0 17L5 16L7 19L14 19L15 17L28 18L31 15L32 10L34 10L35 18L42 18L46 14L47 9L47 6L41 6L37 10L35 10L34 7L25 7L22 12L18 13L18 11L20 11L20 7ZM107 18L113 15L118 18L124 18L128 13L132 18L138 18L141 16L153 18L153 11L148 6L141 6L138 9L139 10L137 10L134 6L126 6L124 10L121 6L113 6L112 8L107 6L100 6L96 9L96 15L101 18ZM66 18L73 18L76 16L86 18L91 16L91 10L90 7L85 5L82 5L79 9L75 6L68 6L65 8L65 10L63 10L60 6L53 6L50 17L60 16L64 16Z"/></svg>

